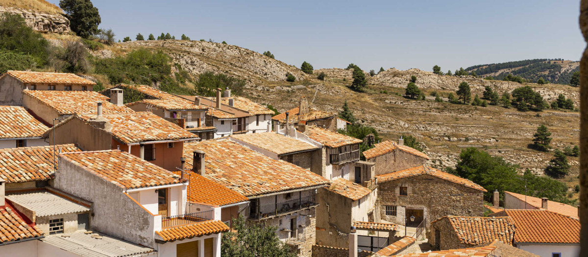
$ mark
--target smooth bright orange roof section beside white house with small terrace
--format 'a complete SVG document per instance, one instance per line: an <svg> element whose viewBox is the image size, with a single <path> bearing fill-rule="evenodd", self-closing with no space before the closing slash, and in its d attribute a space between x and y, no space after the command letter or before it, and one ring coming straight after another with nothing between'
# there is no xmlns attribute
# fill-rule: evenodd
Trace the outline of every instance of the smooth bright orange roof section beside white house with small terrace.
<svg viewBox="0 0 588 257"><path fill-rule="evenodd" d="M205 178L202 175L193 173L192 171L187 172L187 177L190 180L188 201L216 206L247 201L247 197L245 197L245 195L230 190L218 182L212 181L209 178ZM180 171L174 171L173 173L180 175Z"/></svg>

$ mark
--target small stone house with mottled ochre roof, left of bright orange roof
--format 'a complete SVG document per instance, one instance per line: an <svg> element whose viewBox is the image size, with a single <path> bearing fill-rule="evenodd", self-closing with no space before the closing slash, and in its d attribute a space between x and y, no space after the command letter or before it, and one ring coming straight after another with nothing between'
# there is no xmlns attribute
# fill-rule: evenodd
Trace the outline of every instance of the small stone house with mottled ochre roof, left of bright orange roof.
<svg viewBox="0 0 588 257"><path fill-rule="evenodd" d="M431 222L429 243L449 250L483 246L495 240L513 244L515 225L510 217L445 216Z"/></svg>

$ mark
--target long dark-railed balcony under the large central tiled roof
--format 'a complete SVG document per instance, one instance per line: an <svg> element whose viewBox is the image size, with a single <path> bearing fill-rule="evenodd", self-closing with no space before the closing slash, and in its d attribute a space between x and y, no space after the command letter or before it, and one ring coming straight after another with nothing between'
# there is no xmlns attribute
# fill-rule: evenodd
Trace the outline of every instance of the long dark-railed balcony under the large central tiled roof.
<svg viewBox="0 0 588 257"><path fill-rule="evenodd" d="M300 211L316 207L316 194L307 197L301 197L284 202L275 202L273 204L258 205L258 201L252 201L249 212L250 219L267 219L279 215L289 214L290 212Z"/></svg>

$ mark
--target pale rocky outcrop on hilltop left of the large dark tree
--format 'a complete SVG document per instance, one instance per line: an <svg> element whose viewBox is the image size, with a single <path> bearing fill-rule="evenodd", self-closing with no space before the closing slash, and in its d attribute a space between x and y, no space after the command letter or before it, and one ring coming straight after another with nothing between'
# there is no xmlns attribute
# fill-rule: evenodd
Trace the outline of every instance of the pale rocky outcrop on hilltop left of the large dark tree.
<svg viewBox="0 0 588 257"><path fill-rule="evenodd" d="M69 33L69 20L54 13L35 12L22 8L0 6L0 13L16 13L25 18L26 25L39 32Z"/></svg>

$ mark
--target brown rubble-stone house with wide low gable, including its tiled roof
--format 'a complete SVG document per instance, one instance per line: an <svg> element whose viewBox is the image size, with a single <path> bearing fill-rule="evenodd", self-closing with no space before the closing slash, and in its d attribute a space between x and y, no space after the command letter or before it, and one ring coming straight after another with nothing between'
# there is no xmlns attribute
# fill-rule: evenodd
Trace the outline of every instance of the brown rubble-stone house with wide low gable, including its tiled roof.
<svg viewBox="0 0 588 257"><path fill-rule="evenodd" d="M443 216L483 214L482 186L436 168L419 166L376 175L375 184L380 218L387 222L417 226L425 221L429 228L430 221Z"/></svg>

